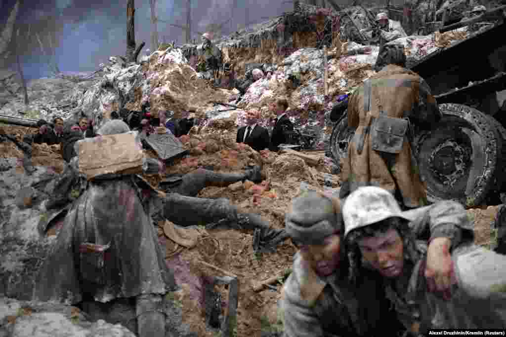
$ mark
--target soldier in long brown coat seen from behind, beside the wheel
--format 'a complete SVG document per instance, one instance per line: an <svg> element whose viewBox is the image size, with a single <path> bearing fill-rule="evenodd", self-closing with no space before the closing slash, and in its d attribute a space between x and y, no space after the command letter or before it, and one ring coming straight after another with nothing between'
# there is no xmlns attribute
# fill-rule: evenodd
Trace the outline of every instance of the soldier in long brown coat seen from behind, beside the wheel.
<svg viewBox="0 0 506 337"><path fill-rule="evenodd" d="M347 158L342 158L341 198L373 185L391 191L404 208L427 204L411 142L414 127L430 129L441 113L424 79L405 67L404 47L384 45L375 65L378 72L349 98L348 126L356 131Z"/></svg>

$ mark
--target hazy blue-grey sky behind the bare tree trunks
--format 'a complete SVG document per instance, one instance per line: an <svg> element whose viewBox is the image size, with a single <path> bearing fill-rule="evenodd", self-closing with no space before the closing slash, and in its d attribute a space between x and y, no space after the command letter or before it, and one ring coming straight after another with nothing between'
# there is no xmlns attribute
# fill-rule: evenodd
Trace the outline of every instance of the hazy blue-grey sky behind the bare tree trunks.
<svg viewBox="0 0 506 337"><path fill-rule="evenodd" d="M0 27L6 21L16 0L0 0ZM126 4L127 0L24 0L18 15L20 23L56 18L61 26L60 41L56 49L56 60L61 71L92 71L100 63L107 63L109 56L124 55L126 47ZM255 2L235 0L233 21L224 27L224 33L235 31L238 24L261 22L262 17L273 17L293 8L286 0ZM141 55L150 48L151 10L149 0L136 0L136 42L146 42ZM232 16L234 0L192 0L192 24L196 31L203 31L209 23L222 23ZM186 23L186 0L157 0L159 20L184 25ZM54 21L54 19L53 19ZM49 20L48 20L49 22ZM54 24L53 24L54 25ZM231 27L233 25L233 27ZM48 23L48 27L51 26ZM49 28L48 28L49 29ZM232 30L233 29L233 30ZM176 40L184 42L180 28L168 23L158 23L160 42ZM44 33L40 33L44 39ZM35 40L36 41L36 40ZM47 76L48 67L38 43L32 42L33 51L22 58L25 76L38 78Z"/></svg>

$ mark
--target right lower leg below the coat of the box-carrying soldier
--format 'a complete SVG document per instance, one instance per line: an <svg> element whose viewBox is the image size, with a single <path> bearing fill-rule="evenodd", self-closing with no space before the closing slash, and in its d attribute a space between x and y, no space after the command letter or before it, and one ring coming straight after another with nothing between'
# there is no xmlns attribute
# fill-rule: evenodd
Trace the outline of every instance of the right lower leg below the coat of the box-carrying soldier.
<svg viewBox="0 0 506 337"><path fill-rule="evenodd" d="M165 337L165 314L161 295L143 294L136 299L139 337Z"/></svg>

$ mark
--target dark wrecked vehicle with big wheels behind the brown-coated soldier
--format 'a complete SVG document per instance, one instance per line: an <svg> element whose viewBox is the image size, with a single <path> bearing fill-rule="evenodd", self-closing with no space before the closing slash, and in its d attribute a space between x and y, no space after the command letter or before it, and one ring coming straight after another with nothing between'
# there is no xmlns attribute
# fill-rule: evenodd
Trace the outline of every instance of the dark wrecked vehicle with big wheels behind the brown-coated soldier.
<svg viewBox="0 0 506 337"><path fill-rule="evenodd" d="M411 67L429 84L443 115L436 129L416 132L413 141L430 202L452 199L476 207L498 202L506 187L506 111L497 100L506 89L505 33L502 21ZM335 110L330 149L339 163L355 130L347 112Z"/></svg>

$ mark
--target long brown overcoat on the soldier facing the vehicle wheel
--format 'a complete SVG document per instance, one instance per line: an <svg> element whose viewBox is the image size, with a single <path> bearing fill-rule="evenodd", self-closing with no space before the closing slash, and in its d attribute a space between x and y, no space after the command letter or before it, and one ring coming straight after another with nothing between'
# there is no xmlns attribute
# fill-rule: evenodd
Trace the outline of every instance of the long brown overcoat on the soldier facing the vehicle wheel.
<svg viewBox="0 0 506 337"><path fill-rule="evenodd" d="M401 152L395 155L373 150L370 132L364 138L360 154L357 145L371 117L377 118L380 109L388 117L409 118L415 128L430 129L441 118L436 100L423 78L396 65L386 66L371 80L368 113L364 112L363 85L350 98L348 125L356 127L356 131L348 147L348 157L342 160L343 179L349 184L350 192L365 185L379 186L392 193L398 189L404 206L424 206L427 203L426 186L419 175L416 161L411 157L408 137L404 138Z"/></svg>

